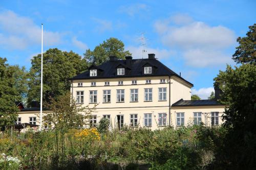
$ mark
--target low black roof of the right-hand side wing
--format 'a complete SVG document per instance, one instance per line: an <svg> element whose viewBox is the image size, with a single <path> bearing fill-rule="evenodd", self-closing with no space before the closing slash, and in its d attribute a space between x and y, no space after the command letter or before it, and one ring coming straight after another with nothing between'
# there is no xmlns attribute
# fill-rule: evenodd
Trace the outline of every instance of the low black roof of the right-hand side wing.
<svg viewBox="0 0 256 170"><path fill-rule="evenodd" d="M223 106L217 100L179 100L172 106Z"/></svg>

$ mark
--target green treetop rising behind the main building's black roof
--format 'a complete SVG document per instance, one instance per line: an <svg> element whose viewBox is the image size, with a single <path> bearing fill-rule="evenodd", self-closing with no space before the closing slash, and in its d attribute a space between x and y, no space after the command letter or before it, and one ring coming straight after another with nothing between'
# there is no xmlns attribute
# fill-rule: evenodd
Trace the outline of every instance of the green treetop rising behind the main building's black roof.
<svg viewBox="0 0 256 170"><path fill-rule="evenodd" d="M88 49L86 53L84 53L84 58L90 63L100 65L109 60L109 56L124 59L125 56L131 55L129 51L124 51L124 43L121 40L110 38L97 45L93 51Z"/></svg>

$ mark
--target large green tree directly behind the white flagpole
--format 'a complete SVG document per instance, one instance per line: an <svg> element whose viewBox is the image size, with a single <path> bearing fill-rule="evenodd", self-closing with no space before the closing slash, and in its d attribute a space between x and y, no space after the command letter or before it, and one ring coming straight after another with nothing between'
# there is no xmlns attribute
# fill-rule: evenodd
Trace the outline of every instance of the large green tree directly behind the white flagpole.
<svg viewBox="0 0 256 170"><path fill-rule="evenodd" d="M33 57L29 72L28 103L40 100L41 55ZM43 100L49 102L50 96L58 96L70 90L69 78L86 70L88 64L81 56L57 48L49 49L43 56Z"/></svg>

